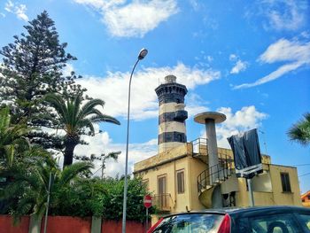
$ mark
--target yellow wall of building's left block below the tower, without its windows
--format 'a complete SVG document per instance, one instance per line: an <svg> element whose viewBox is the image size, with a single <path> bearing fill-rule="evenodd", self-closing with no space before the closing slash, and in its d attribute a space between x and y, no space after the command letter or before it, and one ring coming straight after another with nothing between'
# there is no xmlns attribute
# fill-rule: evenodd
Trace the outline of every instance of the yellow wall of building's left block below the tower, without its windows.
<svg viewBox="0 0 310 233"><path fill-rule="evenodd" d="M181 159L177 159L182 155ZM171 195L169 200L170 213L205 209L205 206L201 205L198 200L197 178L207 167L205 163L192 158L191 155L192 145L185 144L135 164L135 172L151 167L143 172L136 173L136 175L142 176L143 181L149 183L149 190L155 195L159 193L159 176L165 175L167 177L167 193ZM160 165L159 163L168 160L170 161L165 164ZM180 170L184 171L184 193L177 193L176 172ZM152 222L158 218L159 216Z"/></svg>

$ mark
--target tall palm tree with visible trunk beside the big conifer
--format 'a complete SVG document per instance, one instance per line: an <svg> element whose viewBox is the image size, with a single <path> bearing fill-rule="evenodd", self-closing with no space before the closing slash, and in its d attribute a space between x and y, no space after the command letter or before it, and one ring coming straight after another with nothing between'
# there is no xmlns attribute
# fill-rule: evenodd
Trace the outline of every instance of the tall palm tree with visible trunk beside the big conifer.
<svg viewBox="0 0 310 233"><path fill-rule="evenodd" d="M85 130L89 128L89 135L95 135L93 123L110 122L120 125L119 120L97 110L97 106L105 105L105 101L101 99L90 99L85 105L81 105L83 100L81 94L76 94L74 97L49 94L45 100L58 113L59 127L66 131L64 167L73 163L74 148L81 143L81 135L85 134Z"/></svg>

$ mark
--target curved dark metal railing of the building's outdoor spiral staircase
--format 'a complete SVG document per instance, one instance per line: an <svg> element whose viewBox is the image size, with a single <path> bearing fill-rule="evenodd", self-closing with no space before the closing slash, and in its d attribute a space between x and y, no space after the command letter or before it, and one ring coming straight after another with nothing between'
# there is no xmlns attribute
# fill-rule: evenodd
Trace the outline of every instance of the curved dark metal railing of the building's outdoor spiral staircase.
<svg viewBox="0 0 310 233"><path fill-rule="evenodd" d="M206 168L198 175L198 195L207 187L212 187L215 183L226 181L233 172L231 159L220 159L219 164Z"/></svg>

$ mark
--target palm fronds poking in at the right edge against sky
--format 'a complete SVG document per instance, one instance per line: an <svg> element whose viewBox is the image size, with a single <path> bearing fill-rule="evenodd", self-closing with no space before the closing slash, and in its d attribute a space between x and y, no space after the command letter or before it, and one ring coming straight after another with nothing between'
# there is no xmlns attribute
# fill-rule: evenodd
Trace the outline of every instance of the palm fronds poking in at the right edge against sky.
<svg viewBox="0 0 310 233"><path fill-rule="evenodd" d="M298 120L288 131L291 141L302 145L310 144L310 113L305 113L302 120Z"/></svg>

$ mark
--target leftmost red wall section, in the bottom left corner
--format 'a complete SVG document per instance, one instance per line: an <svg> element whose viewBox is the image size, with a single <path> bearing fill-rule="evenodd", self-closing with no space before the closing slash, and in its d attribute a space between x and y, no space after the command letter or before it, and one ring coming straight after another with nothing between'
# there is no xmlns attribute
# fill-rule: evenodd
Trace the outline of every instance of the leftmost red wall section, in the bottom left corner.
<svg viewBox="0 0 310 233"><path fill-rule="evenodd" d="M0 233L28 233L30 217L21 217L17 226L13 226L12 217L0 215Z"/></svg>

